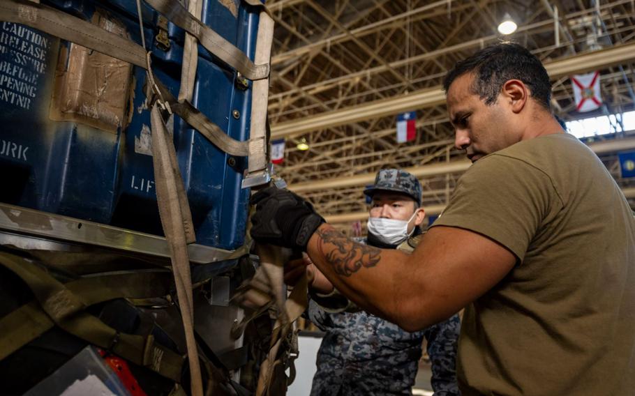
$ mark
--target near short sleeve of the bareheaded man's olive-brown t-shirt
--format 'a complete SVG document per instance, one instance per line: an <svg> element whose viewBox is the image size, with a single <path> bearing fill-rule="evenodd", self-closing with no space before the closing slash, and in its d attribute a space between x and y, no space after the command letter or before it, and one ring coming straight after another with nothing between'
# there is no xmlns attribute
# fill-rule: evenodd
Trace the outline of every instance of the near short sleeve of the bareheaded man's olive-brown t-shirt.
<svg viewBox="0 0 635 396"><path fill-rule="evenodd" d="M459 179L445 211L432 227L475 231L525 257L532 239L558 199L544 172L528 162L492 154Z"/></svg>

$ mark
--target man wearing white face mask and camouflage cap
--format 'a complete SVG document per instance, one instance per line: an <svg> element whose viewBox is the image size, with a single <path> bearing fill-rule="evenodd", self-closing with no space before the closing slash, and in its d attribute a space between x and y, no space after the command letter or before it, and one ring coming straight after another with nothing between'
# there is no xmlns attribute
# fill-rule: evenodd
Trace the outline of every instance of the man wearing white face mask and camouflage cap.
<svg viewBox="0 0 635 396"><path fill-rule="evenodd" d="M382 169L375 185L364 194L371 197L372 204L368 236L361 242L412 252L425 216L417 178L399 169ZM326 332L317 353L312 396L411 395L424 337L432 362L435 395L459 395L455 371L460 328L457 315L408 333L394 323L356 309L306 261L287 266L286 280L294 279L301 271L307 271L311 280L308 316Z"/></svg>

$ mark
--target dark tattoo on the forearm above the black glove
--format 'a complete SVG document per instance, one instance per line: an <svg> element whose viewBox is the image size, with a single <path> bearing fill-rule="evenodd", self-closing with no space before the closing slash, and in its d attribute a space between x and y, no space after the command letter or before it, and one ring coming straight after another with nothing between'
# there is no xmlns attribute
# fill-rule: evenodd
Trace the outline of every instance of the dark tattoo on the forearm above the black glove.
<svg viewBox="0 0 635 396"><path fill-rule="evenodd" d="M350 276L380 261L382 250L353 242L335 229L318 229L317 236L317 248L339 275Z"/></svg>

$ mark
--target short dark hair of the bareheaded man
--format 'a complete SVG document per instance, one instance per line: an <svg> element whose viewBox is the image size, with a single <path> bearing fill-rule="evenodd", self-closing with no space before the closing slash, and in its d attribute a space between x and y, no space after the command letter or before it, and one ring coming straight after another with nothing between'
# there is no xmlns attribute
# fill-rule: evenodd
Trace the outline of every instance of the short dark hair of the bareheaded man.
<svg viewBox="0 0 635 396"><path fill-rule="evenodd" d="M551 82L540 60L525 47L514 43L498 43L458 61L443 80L447 93L454 80L465 73L474 73L472 91L493 105L503 84L519 79L531 89L531 96L547 110L551 110Z"/></svg>

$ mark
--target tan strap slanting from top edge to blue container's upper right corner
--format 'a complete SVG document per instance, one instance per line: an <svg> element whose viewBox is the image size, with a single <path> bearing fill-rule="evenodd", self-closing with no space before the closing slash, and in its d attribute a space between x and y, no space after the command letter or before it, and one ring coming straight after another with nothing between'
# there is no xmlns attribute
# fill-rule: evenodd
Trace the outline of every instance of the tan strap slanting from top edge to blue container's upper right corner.
<svg viewBox="0 0 635 396"><path fill-rule="evenodd" d="M201 22L198 18L194 17L191 13L188 13L188 10L186 10L179 1L144 1L159 13L163 14L167 20L170 20L170 22L197 38L203 47L216 55L218 59L227 63L227 65L232 66L232 68L241 73L241 75L252 80L266 79L269 76L269 59L262 64L257 64L258 59L252 62L244 52L234 47L232 43L225 40L225 38L209 28L209 26ZM262 14L263 13L260 13L261 17Z"/></svg>

